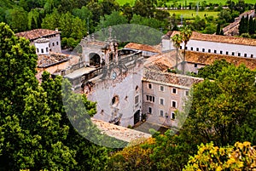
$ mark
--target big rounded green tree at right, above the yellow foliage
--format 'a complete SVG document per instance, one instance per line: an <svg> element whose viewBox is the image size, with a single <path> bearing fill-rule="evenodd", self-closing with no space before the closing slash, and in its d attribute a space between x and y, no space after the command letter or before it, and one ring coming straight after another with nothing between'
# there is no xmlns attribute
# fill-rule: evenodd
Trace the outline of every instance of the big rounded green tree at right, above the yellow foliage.
<svg viewBox="0 0 256 171"><path fill-rule="evenodd" d="M189 110L189 116L183 133L195 142L214 141L217 145L255 140L254 126L247 125L255 117L252 115L256 100L255 71L243 65L230 65L217 74L213 76L216 77L214 82L207 79L193 87L192 105L185 109ZM247 136L241 137L245 133ZM194 136L189 137L189 134Z"/></svg>

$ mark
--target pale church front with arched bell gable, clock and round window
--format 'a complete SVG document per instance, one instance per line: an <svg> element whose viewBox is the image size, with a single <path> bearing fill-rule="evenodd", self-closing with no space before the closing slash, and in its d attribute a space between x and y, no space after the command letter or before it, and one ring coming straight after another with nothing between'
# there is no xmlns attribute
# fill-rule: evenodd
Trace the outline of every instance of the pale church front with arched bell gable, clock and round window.
<svg viewBox="0 0 256 171"><path fill-rule="evenodd" d="M142 109L143 55L140 51L118 49L109 37L97 41L93 36L80 43L87 67L96 68L81 88L88 100L97 102L96 119L125 126L140 120ZM136 115L136 116L135 116ZM136 119L134 119L136 117Z"/></svg>

